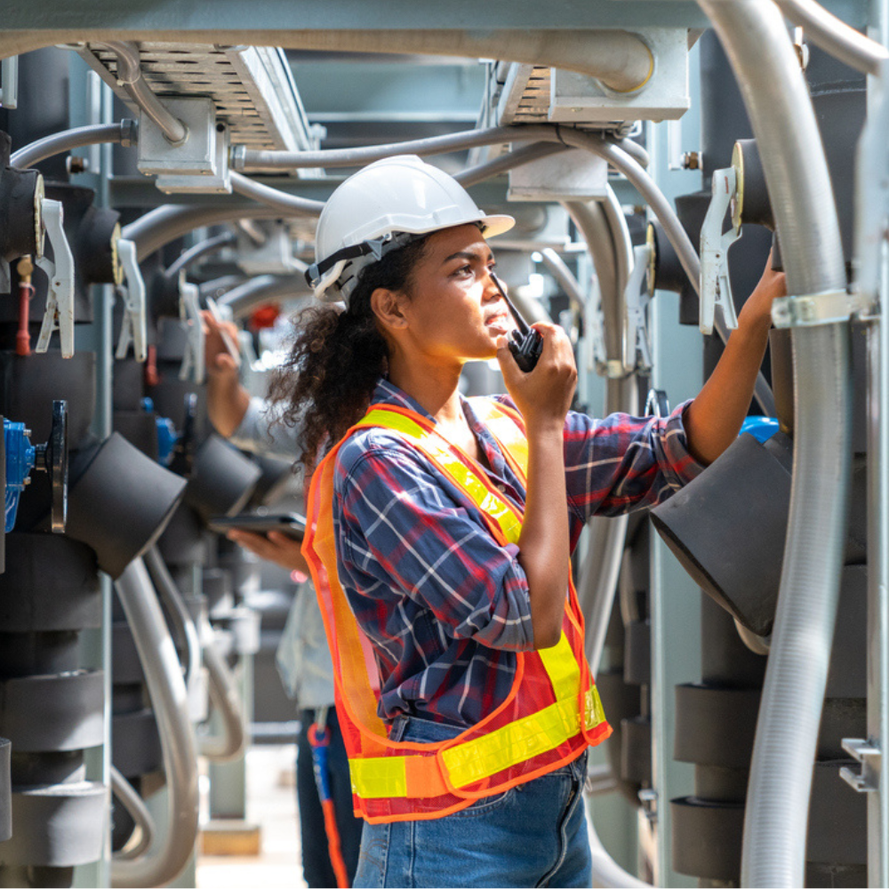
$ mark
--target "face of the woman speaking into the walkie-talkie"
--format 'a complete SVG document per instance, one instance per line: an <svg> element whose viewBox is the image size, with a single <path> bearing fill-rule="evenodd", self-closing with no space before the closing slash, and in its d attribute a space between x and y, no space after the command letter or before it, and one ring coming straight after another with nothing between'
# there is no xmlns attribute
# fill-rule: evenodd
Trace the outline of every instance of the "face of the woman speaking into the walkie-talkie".
<svg viewBox="0 0 889 889"><path fill-rule="evenodd" d="M430 359L493 358L515 327L490 276L494 258L474 225L428 237L399 300L404 334Z"/></svg>

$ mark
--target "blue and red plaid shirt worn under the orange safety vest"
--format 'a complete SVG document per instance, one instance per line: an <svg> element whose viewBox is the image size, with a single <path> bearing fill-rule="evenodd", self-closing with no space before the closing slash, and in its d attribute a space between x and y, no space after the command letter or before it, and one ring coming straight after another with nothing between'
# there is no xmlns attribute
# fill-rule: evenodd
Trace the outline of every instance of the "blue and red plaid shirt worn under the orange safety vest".
<svg viewBox="0 0 889 889"><path fill-rule="evenodd" d="M496 396L512 405L509 396ZM428 413L388 380L372 404ZM669 417L565 420L572 549L592 515L651 507L701 466L685 445L680 404ZM493 484L520 509L525 488L463 402ZM432 419L428 417L428 419ZM528 584L515 546L501 546L479 510L418 449L383 428L340 447L333 519L340 583L380 668L380 716L475 725L504 700L516 653L533 649Z"/></svg>

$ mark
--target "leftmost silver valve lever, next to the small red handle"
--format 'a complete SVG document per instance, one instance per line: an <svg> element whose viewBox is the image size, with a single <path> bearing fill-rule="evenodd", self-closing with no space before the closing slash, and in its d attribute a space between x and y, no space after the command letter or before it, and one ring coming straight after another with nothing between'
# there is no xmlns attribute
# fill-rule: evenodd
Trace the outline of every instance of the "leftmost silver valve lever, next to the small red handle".
<svg viewBox="0 0 889 889"><path fill-rule="evenodd" d="M52 260L41 255L34 264L49 278L46 292L44 323L40 326L35 352L45 352L50 346L52 332L59 331L61 356L74 355L74 256L62 226L64 215L60 201L45 198L41 201L41 216L46 236L52 245Z"/></svg>

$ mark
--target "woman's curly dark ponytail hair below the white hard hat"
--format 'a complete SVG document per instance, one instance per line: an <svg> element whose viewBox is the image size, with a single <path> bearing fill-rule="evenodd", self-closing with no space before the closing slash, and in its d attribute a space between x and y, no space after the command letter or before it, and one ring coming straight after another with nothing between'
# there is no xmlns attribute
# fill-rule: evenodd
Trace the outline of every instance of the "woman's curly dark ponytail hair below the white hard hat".
<svg viewBox="0 0 889 889"><path fill-rule="evenodd" d="M292 347L272 377L269 397L284 404L280 420L300 428L306 477L361 419L377 380L388 372L388 349L371 309L371 294L384 287L410 297L412 271L427 239L417 238L365 267L348 308L313 306L294 319Z"/></svg>

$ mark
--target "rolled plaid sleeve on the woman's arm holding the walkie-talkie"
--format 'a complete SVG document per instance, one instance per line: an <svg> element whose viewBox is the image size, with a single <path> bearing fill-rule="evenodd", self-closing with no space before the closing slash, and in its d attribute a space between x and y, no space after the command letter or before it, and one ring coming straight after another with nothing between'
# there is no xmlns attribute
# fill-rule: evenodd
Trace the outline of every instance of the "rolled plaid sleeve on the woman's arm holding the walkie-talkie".
<svg viewBox="0 0 889 889"><path fill-rule="evenodd" d="M517 548L495 541L415 449L379 430L369 435L374 444L342 449L335 484L340 580L353 607L356 592L366 590L366 608L360 601L359 608L372 619L373 598L387 589L428 609L454 639L533 649Z"/></svg>

